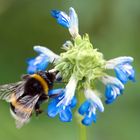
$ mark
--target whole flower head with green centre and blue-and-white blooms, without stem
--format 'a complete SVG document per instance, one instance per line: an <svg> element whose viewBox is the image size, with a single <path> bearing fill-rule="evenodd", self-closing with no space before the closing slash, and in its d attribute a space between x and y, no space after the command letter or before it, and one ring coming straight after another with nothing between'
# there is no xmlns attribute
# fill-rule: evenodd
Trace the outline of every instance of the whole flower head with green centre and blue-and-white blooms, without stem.
<svg viewBox="0 0 140 140"><path fill-rule="evenodd" d="M95 80L101 81L105 87L106 103L110 104L123 93L128 80L135 81L135 71L131 66L133 58L129 56L105 60L103 54L90 43L88 34L81 36L78 29L78 17L73 8L69 15L63 11L52 10L52 16L57 23L67 28L73 42L66 41L63 45L65 52L57 55L46 47L35 46L39 55L28 61L28 73L44 71L49 63L53 63L54 71L59 71L56 78L66 81L63 89L54 89L49 94L60 92L60 95L49 102L47 113L50 117L59 115L63 122L72 120L71 109L76 106L77 95L84 94L85 100L81 103L78 112L83 116L82 123L91 125L96 122L96 112L104 111L100 93L95 89ZM116 76L107 74L113 69ZM60 81L61 82L61 81Z"/></svg>

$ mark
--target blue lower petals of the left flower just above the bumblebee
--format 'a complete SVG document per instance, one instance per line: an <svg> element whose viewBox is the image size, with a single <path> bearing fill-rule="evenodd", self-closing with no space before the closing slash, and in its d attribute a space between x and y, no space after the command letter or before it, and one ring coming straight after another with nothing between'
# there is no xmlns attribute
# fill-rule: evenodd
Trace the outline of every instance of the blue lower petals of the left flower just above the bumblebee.
<svg viewBox="0 0 140 140"><path fill-rule="evenodd" d="M36 58L29 59L27 63L28 63L27 72L29 74L34 74L37 71L45 71L46 68L48 67L49 60L46 55L40 54Z"/></svg>

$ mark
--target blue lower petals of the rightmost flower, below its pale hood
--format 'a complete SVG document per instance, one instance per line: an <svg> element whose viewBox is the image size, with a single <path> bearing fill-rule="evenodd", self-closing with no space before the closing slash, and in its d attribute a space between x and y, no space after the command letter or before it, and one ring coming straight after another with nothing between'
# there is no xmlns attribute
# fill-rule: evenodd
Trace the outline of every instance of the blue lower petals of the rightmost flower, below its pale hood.
<svg viewBox="0 0 140 140"><path fill-rule="evenodd" d="M126 83L128 80L135 81L135 71L130 63L122 63L115 67L115 73L117 78Z"/></svg>

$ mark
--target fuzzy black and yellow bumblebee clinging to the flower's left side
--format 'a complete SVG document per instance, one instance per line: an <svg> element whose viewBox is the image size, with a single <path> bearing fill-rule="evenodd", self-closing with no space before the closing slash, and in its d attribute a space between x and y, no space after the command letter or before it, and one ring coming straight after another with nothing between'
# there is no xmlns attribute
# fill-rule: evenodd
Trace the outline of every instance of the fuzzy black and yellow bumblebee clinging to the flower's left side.
<svg viewBox="0 0 140 140"><path fill-rule="evenodd" d="M33 111L42 113L40 104L57 95L48 95L53 88L57 72L40 71L22 76L22 81L0 86L0 99L10 103L10 112L16 120L17 128L28 123Z"/></svg>

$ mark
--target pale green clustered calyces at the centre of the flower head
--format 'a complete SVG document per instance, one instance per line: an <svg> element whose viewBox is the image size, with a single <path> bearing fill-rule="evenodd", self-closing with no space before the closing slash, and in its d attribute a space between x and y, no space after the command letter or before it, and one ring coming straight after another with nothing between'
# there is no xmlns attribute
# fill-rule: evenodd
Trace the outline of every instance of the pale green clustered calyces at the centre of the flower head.
<svg viewBox="0 0 140 140"><path fill-rule="evenodd" d="M93 48L89 36L77 36L74 44L60 54L60 59L55 63L57 69L65 80L74 74L78 81L84 80L85 84L104 75L105 60L103 54Z"/></svg>

